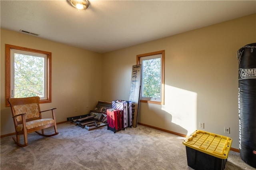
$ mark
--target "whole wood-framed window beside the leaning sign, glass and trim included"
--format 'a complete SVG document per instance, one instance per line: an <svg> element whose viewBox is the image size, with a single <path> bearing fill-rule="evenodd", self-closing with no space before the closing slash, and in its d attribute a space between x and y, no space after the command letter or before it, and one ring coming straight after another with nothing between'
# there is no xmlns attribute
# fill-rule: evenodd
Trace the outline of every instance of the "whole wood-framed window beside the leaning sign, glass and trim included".
<svg viewBox="0 0 256 170"><path fill-rule="evenodd" d="M137 55L137 63L141 64L140 101L164 104L164 51Z"/></svg>

